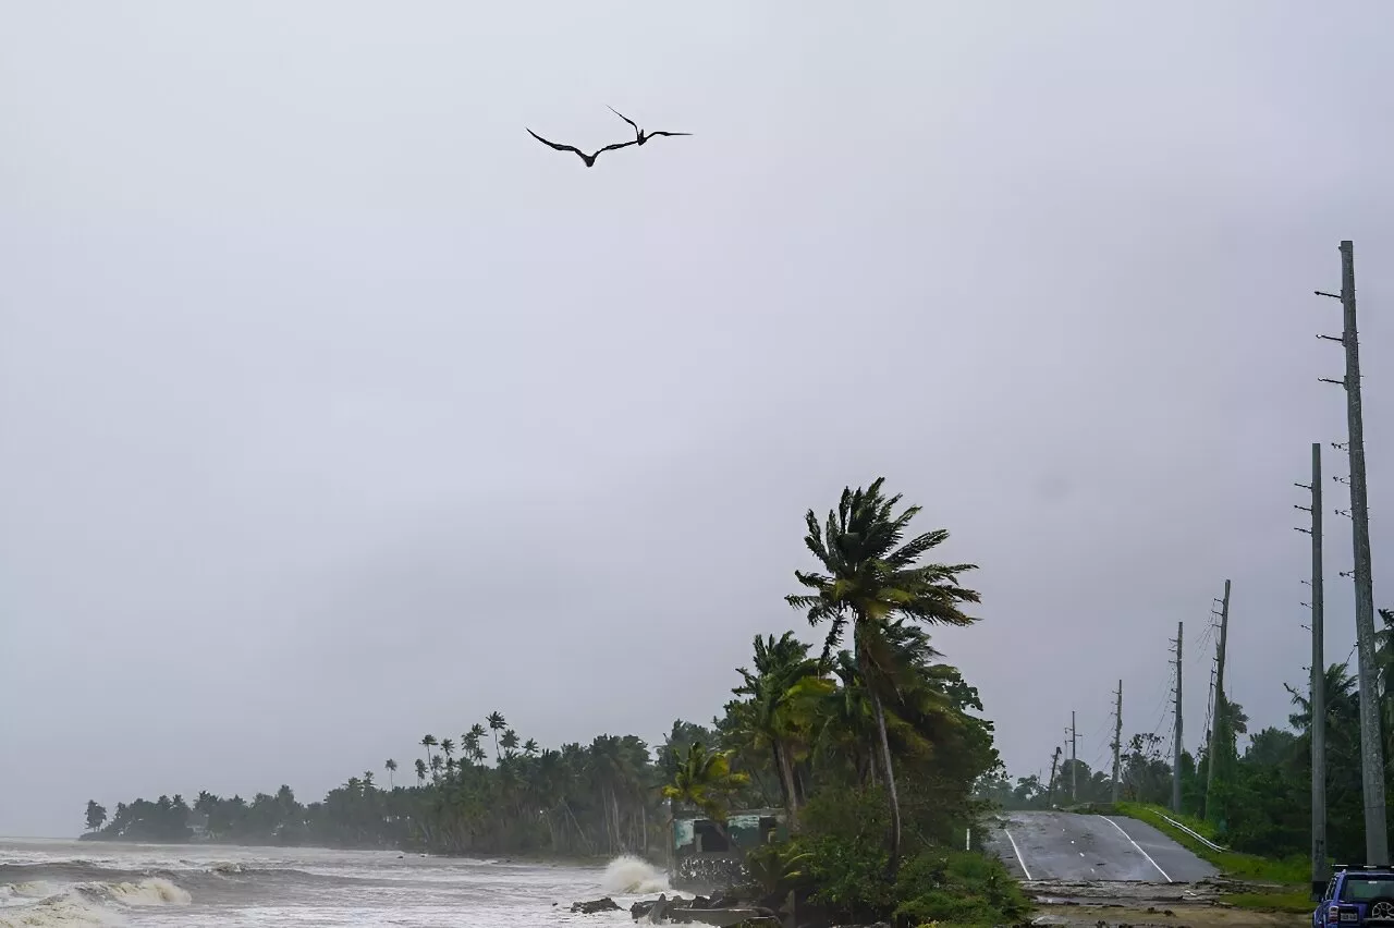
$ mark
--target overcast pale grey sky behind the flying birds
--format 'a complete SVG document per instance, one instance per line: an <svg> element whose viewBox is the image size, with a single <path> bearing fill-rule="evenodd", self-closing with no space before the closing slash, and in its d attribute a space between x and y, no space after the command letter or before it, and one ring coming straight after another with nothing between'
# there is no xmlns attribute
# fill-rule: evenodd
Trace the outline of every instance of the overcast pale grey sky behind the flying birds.
<svg viewBox="0 0 1394 928"><path fill-rule="evenodd" d="M1394 552L1391 26L4 3L0 833L312 798L492 709L549 744L710 719L753 635L809 634L803 511L877 475L981 564L937 642L1015 773L1072 708L1100 759L1119 677L1157 727L1178 620L1193 747L1225 577L1232 695L1281 723L1341 238ZM587 170L524 132L622 141L606 105L696 135Z"/></svg>

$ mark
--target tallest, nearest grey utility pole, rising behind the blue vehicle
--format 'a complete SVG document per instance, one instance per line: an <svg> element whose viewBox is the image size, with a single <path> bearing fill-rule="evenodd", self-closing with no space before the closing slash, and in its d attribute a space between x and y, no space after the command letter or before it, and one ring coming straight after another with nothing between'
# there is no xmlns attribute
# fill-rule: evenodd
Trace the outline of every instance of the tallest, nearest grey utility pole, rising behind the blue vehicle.
<svg viewBox="0 0 1394 928"><path fill-rule="evenodd" d="M1317 291L1319 295L1335 294ZM1345 326L1345 417L1351 454L1351 543L1355 553L1355 642L1361 679L1361 779L1365 782L1365 863L1388 865L1390 843L1384 819L1384 750L1380 744L1380 706L1374 672L1374 588L1370 578L1370 521L1365 479L1365 418L1361 412L1361 346L1355 325L1355 247L1341 242L1341 295Z"/></svg>

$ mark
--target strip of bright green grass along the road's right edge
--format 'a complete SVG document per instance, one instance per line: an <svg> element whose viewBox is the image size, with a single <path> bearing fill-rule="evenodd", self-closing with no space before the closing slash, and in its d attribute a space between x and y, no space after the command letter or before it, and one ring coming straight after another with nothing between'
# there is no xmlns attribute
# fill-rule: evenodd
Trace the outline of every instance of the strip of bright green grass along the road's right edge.
<svg viewBox="0 0 1394 928"><path fill-rule="evenodd" d="M1217 851L1206 847L1179 828L1172 826L1163 815L1181 822L1197 835L1220 844L1214 828L1202 819L1188 815L1177 815L1160 805L1144 805L1142 803L1118 803L1112 807L1118 815L1136 818L1160 830L1200 860L1214 864L1224 876L1234 879L1266 883L1262 892L1227 893L1224 902L1239 908L1253 908L1259 911L1289 911L1310 913L1310 864L1306 857L1289 857L1287 860L1270 860L1256 854L1241 854L1238 851ZM1271 886L1271 889L1269 889Z"/></svg>

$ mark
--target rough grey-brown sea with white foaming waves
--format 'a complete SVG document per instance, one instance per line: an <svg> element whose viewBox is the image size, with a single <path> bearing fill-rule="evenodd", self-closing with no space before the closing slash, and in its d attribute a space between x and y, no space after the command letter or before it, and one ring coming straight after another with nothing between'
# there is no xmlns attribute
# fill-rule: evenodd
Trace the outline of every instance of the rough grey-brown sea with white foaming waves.
<svg viewBox="0 0 1394 928"><path fill-rule="evenodd" d="M636 857L608 867L464 860L400 851L0 840L0 928L110 925L627 924L625 906L668 889Z"/></svg>

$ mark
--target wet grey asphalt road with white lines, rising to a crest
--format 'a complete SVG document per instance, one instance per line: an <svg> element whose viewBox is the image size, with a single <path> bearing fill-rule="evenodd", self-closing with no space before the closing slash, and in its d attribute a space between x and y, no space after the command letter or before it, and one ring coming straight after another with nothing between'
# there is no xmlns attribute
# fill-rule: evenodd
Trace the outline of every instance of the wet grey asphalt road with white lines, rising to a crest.
<svg viewBox="0 0 1394 928"><path fill-rule="evenodd" d="M1189 883L1216 868L1151 825L1122 815L1005 812L988 846L1025 879Z"/></svg>

